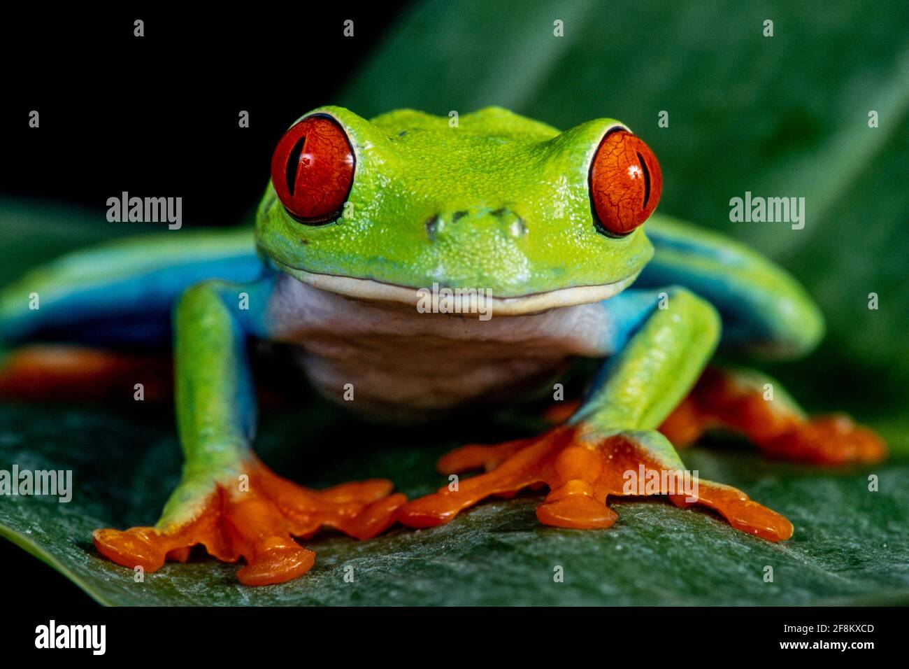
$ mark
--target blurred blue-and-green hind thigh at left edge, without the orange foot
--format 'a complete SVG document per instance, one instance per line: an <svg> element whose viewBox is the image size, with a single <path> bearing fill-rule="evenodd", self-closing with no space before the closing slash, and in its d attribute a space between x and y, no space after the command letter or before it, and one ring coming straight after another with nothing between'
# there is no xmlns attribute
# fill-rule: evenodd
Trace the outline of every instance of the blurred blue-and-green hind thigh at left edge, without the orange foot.
<svg viewBox="0 0 909 669"><path fill-rule="evenodd" d="M176 299L205 279L252 281L251 230L181 231L80 248L0 290L0 340L169 349Z"/></svg>

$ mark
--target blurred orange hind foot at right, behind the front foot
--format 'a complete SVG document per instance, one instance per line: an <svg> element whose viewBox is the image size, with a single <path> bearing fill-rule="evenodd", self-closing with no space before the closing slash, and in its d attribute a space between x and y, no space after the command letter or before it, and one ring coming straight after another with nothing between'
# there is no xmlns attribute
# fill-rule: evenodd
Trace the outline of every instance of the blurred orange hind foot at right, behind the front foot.
<svg viewBox="0 0 909 669"><path fill-rule="evenodd" d="M775 380L755 370L709 367L660 426L676 446L711 429L735 431L766 455L816 464L880 461L884 441L848 416L809 418Z"/></svg>

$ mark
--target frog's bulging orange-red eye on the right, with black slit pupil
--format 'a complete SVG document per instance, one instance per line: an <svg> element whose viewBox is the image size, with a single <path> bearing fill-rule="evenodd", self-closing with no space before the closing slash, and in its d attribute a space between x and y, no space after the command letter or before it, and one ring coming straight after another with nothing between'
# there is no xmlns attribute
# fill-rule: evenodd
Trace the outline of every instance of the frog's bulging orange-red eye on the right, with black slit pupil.
<svg viewBox="0 0 909 669"><path fill-rule="evenodd" d="M590 166L590 199L596 229L626 235L644 223L663 190L663 173L654 152L621 128L610 131Z"/></svg>

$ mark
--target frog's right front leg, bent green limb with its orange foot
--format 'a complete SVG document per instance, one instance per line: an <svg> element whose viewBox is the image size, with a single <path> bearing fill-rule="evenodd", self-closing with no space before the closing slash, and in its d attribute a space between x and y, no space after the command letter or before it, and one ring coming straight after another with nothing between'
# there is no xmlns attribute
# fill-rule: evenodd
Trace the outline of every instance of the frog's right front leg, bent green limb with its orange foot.
<svg viewBox="0 0 909 669"><path fill-rule="evenodd" d="M550 492L536 511L546 524L603 528L615 522L609 496L668 494L679 506L703 504L735 528L771 541L788 539L783 516L744 492L711 481L684 479L684 465L656 428L691 390L714 351L720 321L714 308L686 289L628 291L604 303L617 354L604 364L581 408L542 436L497 446L466 446L440 461L445 472L485 467L486 473L407 502L398 520L414 527L448 522L490 495L540 484ZM643 473L643 476L642 476ZM643 481L642 481L643 479ZM646 484L651 481L653 485ZM690 481L690 480L689 480ZM631 483L631 486L629 486Z"/></svg>

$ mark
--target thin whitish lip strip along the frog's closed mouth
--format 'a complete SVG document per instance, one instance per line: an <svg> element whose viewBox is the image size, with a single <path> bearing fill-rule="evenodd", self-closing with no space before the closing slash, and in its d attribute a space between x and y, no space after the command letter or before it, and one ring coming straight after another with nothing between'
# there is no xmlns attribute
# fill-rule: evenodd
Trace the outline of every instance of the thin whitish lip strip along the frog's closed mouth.
<svg viewBox="0 0 909 669"><path fill-rule="evenodd" d="M427 303L427 299L433 295L434 287L414 288L410 286L399 286L375 279L358 279L356 277L343 277L335 274L319 274L317 272L306 271L285 265L274 258L271 258L278 269L289 274L303 283L313 286L314 288L325 290L327 292L345 295L348 298L364 299L370 302L385 302L399 304L420 309L421 305ZM479 308L489 309L495 316L523 316L526 314L539 313L548 309L558 307L574 307L579 304L590 304L609 299L614 295L622 292L630 286L640 269L633 274L613 281L595 286L573 286L571 288L562 288L547 290L539 293L531 293L512 298L496 298L488 293L483 293L482 289L464 291L459 293L454 290L454 294L447 297L447 313L454 314L475 314ZM435 285L436 291L439 290L438 284ZM464 289L462 289L464 290ZM466 294L465 294L466 293ZM485 299L484 304L478 304L476 300Z"/></svg>

